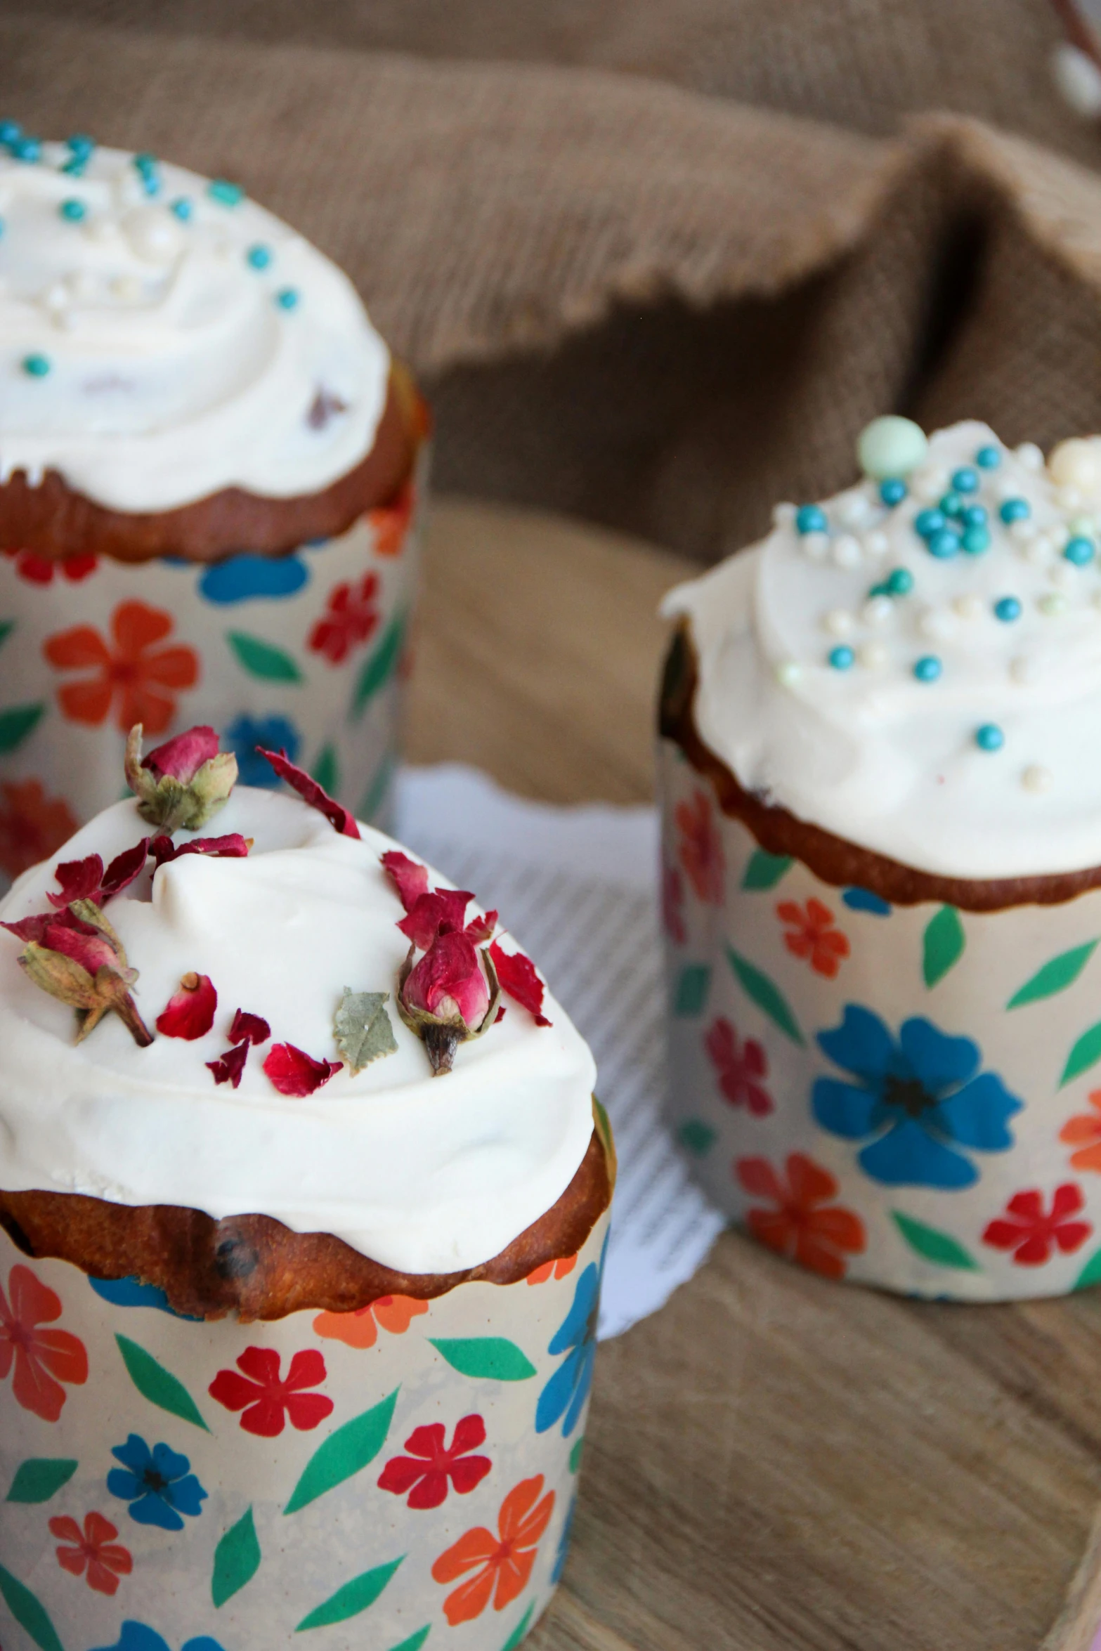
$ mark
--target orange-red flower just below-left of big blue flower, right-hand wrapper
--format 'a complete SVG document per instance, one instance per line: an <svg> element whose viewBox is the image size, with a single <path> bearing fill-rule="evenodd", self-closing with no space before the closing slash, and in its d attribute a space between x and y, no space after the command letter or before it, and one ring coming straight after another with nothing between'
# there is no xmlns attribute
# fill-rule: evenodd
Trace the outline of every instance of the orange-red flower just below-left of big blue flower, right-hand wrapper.
<svg viewBox="0 0 1101 1651"><path fill-rule="evenodd" d="M735 1174L746 1192L776 1205L771 1210L748 1210L746 1227L769 1250L794 1258L812 1273L843 1278L845 1255L860 1255L865 1248L863 1222L832 1202L837 1197L837 1180L829 1169L802 1152L791 1152L786 1167L784 1182L768 1159L738 1159Z"/></svg>

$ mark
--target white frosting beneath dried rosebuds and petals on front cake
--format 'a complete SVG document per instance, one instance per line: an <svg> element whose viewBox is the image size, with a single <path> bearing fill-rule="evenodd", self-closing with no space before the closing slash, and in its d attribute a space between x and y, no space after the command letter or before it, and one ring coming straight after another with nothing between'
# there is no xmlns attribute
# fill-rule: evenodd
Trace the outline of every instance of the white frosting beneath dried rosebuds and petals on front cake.
<svg viewBox="0 0 1101 1651"><path fill-rule="evenodd" d="M183 974L211 977L218 1014L195 1042L139 1048L107 1015L76 1045L73 1010L31 986L20 941L0 931L0 1185L272 1215L411 1273L487 1261L558 1200L586 1152L596 1073L579 1034L550 999L551 1027L503 999L503 1020L432 1078L391 996L398 1052L355 1078L284 1096L262 1071L269 1043L251 1050L239 1090L215 1085L205 1062L226 1050L238 1007L264 1015L272 1042L337 1060L343 987L393 994L408 943L381 832L340 837L297 797L244 786L211 829L254 837L253 852L187 855L157 872L152 901L145 875L107 905L150 1029ZM58 859L107 862L147 832L119 802ZM5 921L46 910L54 863L18 880Z"/></svg>

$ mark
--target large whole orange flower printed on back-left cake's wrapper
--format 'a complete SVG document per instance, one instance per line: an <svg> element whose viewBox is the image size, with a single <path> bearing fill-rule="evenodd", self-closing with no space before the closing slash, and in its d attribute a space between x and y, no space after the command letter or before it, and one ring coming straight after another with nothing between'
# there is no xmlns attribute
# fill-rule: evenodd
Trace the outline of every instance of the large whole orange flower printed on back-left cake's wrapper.
<svg viewBox="0 0 1101 1651"><path fill-rule="evenodd" d="M58 688L58 703L69 721L96 728L114 707L116 726L124 733L137 721L147 735L163 733L175 717L173 690L193 688L198 682L193 647L157 647L172 626L172 614L160 608L120 603L111 616L111 642L89 624L46 637L43 652L51 665L91 672Z"/></svg>

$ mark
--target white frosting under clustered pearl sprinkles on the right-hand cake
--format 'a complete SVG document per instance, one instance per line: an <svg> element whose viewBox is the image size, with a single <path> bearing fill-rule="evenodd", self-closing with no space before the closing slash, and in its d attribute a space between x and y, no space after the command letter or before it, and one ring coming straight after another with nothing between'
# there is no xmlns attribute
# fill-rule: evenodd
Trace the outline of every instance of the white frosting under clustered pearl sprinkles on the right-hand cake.
<svg viewBox="0 0 1101 1651"><path fill-rule="evenodd" d="M997 469L974 462L989 446ZM692 622L702 740L748 791L926 872L992 878L1101 863L1094 447L1070 466L1056 452L1051 475L1037 447L1010 452L985 424L964 423L931 438L895 509L870 480L824 507L825 533L799 533L796 509L777 507L768 538L664 603L665 616ZM938 560L914 515L938 505L961 467L977 472L966 504L985 507L990 545ZM1009 499L1028 502L1028 520L1002 522ZM1083 566L1063 555L1075 537L1096 550ZM911 593L872 596L896 568L913 576ZM1020 603L1012 622L994 613L1007 596ZM852 649L850 669L830 665L835 647ZM943 667L933 682L914 677L926 655ZM1002 731L1000 750L976 741L987 725Z"/></svg>

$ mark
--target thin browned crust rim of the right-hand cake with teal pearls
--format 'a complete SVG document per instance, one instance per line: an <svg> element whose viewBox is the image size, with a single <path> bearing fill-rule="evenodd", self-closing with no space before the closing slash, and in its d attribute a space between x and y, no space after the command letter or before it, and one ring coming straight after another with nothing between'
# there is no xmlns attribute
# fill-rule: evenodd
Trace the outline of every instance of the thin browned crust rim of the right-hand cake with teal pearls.
<svg viewBox="0 0 1101 1651"><path fill-rule="evenodd" d="M957 906L962 911L1000 911L1005 906L1055 906L1101 885L1101 865L1053 877L967 878L919 872L885 854L860 849L834 832L797 819L787 809L743 791L731 771L703 743L695 725L698 665L687 624L675 632L665 655L660 731L680 746L697 773L706 776L723 814L740 819L768 854L792 855L824 883L868 888L896 906L919 901Z"/></svg>

